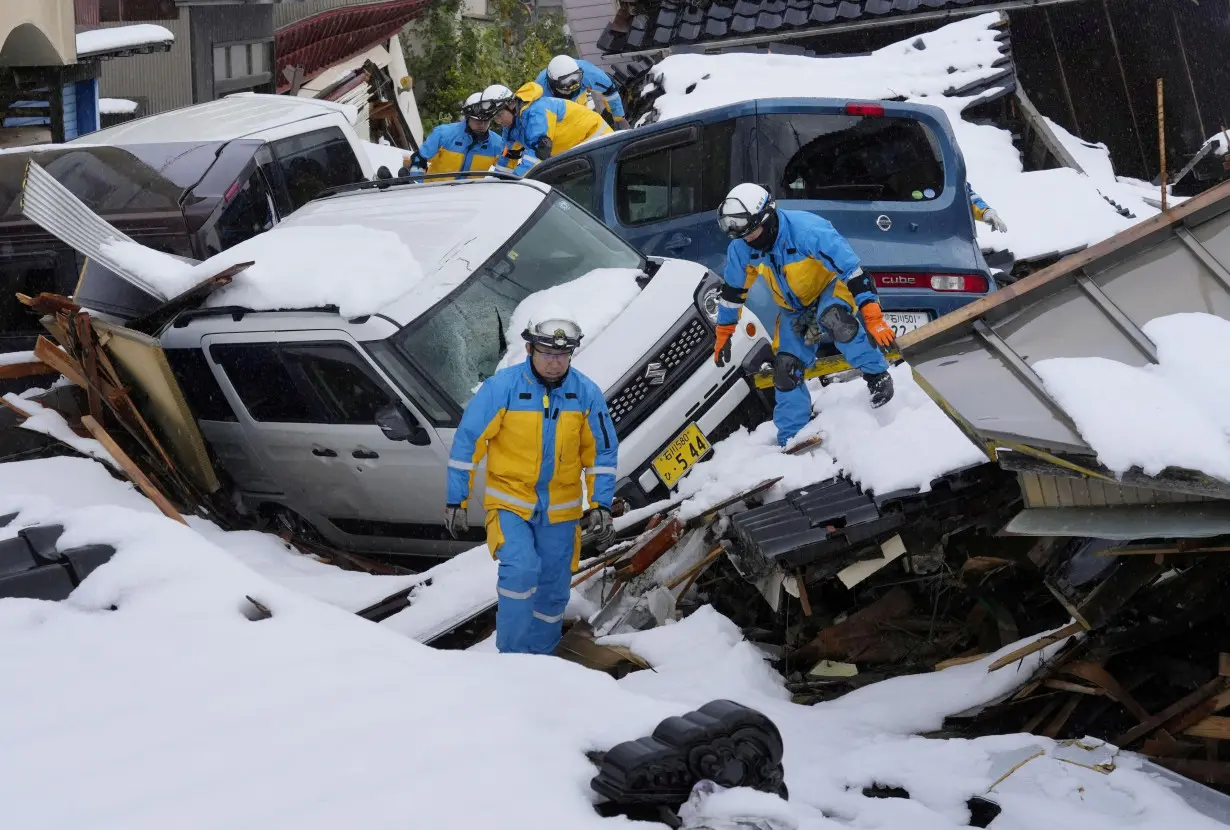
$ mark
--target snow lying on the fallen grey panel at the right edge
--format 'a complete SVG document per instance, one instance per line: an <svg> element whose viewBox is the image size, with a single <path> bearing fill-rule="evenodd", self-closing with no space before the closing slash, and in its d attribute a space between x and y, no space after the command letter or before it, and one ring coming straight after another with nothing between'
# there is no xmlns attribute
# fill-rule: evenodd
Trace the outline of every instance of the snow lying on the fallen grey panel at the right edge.
<svg viewBox="0 0 1230 830"><path fill-rule="evenodd" d="M1114 472L1175 466L1230 481L1230 321L1176 314L1143 330L1157 365L1050 358L1033 369Z"/></svg>

